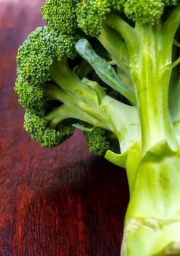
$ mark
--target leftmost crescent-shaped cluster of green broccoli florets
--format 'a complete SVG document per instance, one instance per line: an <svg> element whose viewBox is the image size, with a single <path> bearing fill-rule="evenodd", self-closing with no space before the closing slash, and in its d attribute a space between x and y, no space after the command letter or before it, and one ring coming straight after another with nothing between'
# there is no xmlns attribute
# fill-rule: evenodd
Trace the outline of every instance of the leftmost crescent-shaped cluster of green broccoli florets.
<svg viewBox="0 0 180 256"><path fill-rule="evenodd" d="M53 63L55 59L72 57L74 54L73 38L55 37L47 27L33 31L18 50L15 91L19 95L20 104L26 108L24 127L42 146L58 146L73 134L74 128L71 126L63 126L60 131L50 128L44 116L49 111L50 104L45 91L52 80Z"/></svg>

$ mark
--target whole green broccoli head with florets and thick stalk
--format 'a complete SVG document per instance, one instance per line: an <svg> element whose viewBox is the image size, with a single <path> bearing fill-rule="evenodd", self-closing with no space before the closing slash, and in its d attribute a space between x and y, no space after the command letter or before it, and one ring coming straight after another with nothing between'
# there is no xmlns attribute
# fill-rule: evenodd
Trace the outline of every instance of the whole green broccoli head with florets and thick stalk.
<svg viewBox="0 0 180 256"><path fill-rule="evenodd" d="M53 148L81 129L124 167L122 256L180 255L180 1L46 0L17 53L24 127Z"/></svg>

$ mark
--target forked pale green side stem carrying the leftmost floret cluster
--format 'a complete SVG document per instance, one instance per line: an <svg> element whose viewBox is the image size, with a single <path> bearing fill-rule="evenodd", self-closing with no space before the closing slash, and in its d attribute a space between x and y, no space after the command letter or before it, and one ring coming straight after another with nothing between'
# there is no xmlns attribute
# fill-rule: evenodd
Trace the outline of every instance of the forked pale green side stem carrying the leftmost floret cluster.
<svg viewBox="0 0 180 256"><path fill-rule="evenodd" d="M44 98L47 102L58 101L59 106L44 116L50 127L57 127L65 118L74 118L114 132L120 142L129 137L132 140L134 133L129 136L128 127L131 125L133 131L137 129L135 107L109 97L98 83L85 78L79 80L63 63L54 64L51 78L53 83L47 83L44 87Z"/></svg>

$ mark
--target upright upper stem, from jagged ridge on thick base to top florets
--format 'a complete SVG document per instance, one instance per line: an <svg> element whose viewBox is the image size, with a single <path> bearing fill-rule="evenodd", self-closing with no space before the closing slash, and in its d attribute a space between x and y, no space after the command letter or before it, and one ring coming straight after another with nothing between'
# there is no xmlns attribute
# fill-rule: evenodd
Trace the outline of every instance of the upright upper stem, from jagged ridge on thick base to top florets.
<svg viewBox="0 0 180 256"><path fill-rule="evenodd" d="M173 38L180 23L179 6L174 8L164 25L160 20L152 28L144 28L138 23L133 28L114 14L106 18L106 25L120 34L128 50L130 75L141 120L142 154L165 138L174 150L177 148L169 118L168 91L173 68Z"/></svg>

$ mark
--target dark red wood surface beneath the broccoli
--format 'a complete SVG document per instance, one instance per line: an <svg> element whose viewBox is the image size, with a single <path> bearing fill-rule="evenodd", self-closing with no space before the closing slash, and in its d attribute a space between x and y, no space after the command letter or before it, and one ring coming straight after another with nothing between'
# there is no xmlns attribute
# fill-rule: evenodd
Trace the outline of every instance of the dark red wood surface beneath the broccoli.
<svg viewBox="0 0 180 256"><path fill-rule="evenodd" d="M117 256L125 170L87 150L82 132L52 150L23 129L17 48L42 26L40 0L0 0L0 255Z"/></svg>

